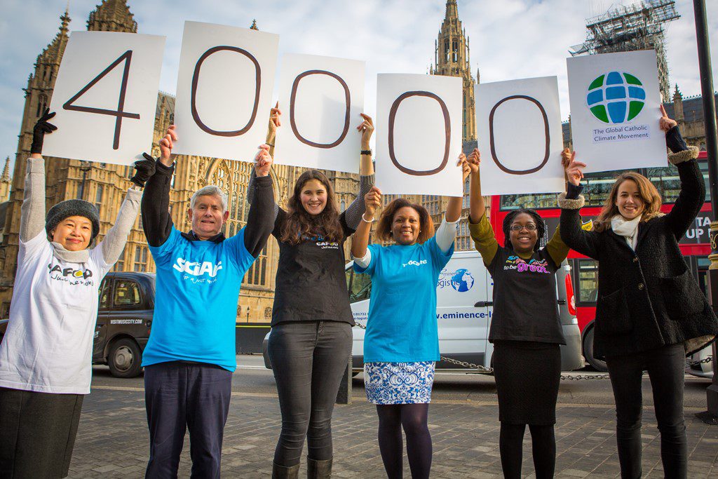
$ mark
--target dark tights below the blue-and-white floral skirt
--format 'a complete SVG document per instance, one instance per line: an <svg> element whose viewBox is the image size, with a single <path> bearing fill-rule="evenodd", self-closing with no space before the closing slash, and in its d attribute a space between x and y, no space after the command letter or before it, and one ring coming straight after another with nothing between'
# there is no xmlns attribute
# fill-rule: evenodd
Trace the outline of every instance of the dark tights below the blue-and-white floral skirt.
<svg viewBox="0 0 718 479"><path fill-rule="evenodd" d="M429 478L432 468L432 437L429 426L429 404L377 404L379 415L379 451L388 479L401 479L406 434L406 455L413 479Z"/></svg>

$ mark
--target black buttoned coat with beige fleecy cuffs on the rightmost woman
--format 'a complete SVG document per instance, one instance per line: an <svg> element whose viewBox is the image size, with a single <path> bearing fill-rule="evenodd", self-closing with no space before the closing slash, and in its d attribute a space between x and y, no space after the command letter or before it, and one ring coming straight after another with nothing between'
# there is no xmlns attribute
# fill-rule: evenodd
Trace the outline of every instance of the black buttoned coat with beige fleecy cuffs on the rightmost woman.
<svg viewBox="0 0 718 479"><path fill-rule="evenodd" d="M561 238L599 261L594 347L600 357L677 343L694 353L718 334L716 315L679 249L706 195L696 156L697 150L671 155L681 193L670 213L639 223L635 251L610 228L582 230L583 197L561 195Z"/></svg>

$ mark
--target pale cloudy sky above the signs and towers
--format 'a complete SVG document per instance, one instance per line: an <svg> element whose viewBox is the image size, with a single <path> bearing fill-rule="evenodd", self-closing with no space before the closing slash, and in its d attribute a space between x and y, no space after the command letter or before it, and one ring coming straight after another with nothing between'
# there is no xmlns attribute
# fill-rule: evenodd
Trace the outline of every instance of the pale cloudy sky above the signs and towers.
<svg viewBox="0 0 718 479"><path fill-rule="evenodd" d="M86 29L100 0L71 0L70 29ZM160 89L173 93L187 19L258 27L281 35L279 53L366 60L365 111L376 111L377 73L426 73L444 19L444 0L129 0L140 33L167 37ZM568 118L567 50L586 36L585 19L630 1L459 0L471 66L482 82L558 75L561 117ZM707 0L714 83L718 85L718 1ZM66 0L2 0L0 7L0 157L14 157L27 77L57 33ZM693 2L676 0L668 24L671 88L700 94ZM276 96L276 88L275 88Z"/></svg>

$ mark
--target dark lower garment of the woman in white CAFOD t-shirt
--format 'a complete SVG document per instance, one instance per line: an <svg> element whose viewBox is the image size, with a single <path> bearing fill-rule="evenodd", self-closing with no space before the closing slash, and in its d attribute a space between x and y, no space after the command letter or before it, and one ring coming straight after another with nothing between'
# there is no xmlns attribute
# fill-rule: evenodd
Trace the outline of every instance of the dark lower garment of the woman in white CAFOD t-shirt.
<svg viewBox="0 0 718 479"><path fill-rule="evenodd" d="M0 478L67 477L84 397L0 388Z"/></svg>

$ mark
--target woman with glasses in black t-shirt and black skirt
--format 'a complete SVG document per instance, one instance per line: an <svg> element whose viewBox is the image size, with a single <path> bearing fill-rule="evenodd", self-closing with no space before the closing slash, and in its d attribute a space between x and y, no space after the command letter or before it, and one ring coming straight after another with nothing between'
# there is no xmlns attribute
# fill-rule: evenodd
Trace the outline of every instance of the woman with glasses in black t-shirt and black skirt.
<svg viewBox="0 0 718 479"><path fill-rule="evenodd" d="M477 149L469 161L480 163ZM569 248L558 228L541 248L546 225L535 210L526 209L506 215L501 246L486 217L478 169L472 172L470 185L469 230L494 282L489 341L494 346L501 467L506 478L521 477L521 448L528 424L536 477L551 478L556 462L559 345L566 343L556 308L555 273Z"/></svg>

